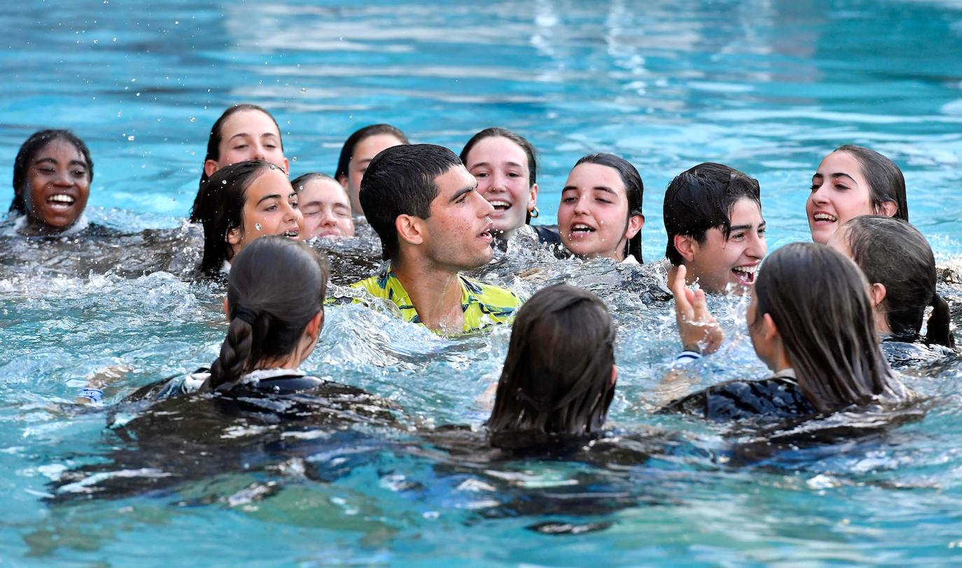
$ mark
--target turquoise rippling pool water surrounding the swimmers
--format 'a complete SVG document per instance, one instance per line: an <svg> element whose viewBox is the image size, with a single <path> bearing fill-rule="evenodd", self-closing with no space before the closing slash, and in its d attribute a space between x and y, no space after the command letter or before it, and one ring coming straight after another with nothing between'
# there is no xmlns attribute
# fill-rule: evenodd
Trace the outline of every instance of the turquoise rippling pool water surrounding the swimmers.
<svg viewBox="0 0 962 568"><path fill-rule="evenodd" d="M664 252L661 197L679 171L711 160L758 178L774 248L807 238L823 155L862 143L902 167L911 219L939 261L957 266L962 253L957 3L108 0L9 6L0 33L6 175L32 132L71 128L96 164L89 215L125 230L181 231L211 124L256 102L281 123L293 174L330 172L343 138L372 122L455 150L487 126L512 128L541 151L546 222L577 158L618 153L645 179L646 259ZM11 196L2 184L0 203ZM151 265L151 238L123 245L142 245ZM119 258L115 248L0 242L0 563L927 566L962 555L957 359L905 371L927 399L923 420L763 457L746 435L652 413L675 349L669 304L646 303L604 262L515 259L595 289L615 312L620 453L488 463L439 450L438 434L414 429L484 420L475 399L509 331L443 339L357 307L330 310L305 366L392 400L397 427L217 423L190 405L76 411L65 403L86 373L133 367L109 393L116 403L209 363L224 331L222 289L175 269L190 251L149 274L132 259L87 261ZM492 278L524 294L539 285ZM943 291L960 305L957 285ZM740 332L745 307L714 308L732 341L703 383L763 373Z"/></svg>

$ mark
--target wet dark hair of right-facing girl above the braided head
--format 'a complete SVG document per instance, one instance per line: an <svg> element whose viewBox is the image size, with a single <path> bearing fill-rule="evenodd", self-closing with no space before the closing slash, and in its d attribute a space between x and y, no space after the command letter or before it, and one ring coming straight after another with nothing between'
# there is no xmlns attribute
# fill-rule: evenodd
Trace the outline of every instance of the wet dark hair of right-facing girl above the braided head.
<svg viewBox="0 0 962 568"><path fill-rule="evenodd" d="M216 272L223 266L224 260L230 259L230 246L224 239L232 229L243 225L247 187L270 168L283 171L281 166L269 161L239 161L218 169L213 176L200 183L190 210L190 222L204 226L201 272Z"/></svg>

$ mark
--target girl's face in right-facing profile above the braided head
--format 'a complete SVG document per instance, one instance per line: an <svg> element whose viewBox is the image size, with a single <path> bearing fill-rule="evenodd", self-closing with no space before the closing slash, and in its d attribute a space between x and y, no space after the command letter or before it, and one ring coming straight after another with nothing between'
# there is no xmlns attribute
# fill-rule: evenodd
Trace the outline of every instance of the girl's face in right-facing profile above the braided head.
<svg viewBox="0 0 962 568"><path fill-rule="evenodd" d="M227 233L231 258L264 235L285 235L300 240L304 217L297 209L297 194L279 168L266 169L244 191L241 227Z"/></svg>

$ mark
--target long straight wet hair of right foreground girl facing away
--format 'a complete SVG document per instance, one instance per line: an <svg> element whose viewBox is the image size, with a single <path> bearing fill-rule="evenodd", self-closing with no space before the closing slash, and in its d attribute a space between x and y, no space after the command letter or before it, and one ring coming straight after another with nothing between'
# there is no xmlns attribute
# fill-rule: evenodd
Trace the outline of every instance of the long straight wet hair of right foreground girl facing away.
<svg viewBox="0 0 962 568"><path fill-rule="evenodd" d="M821 412L903 393L879 347L868 289L854 262L812 242L772 253L755 284L749 325L772 316L798 385Z"/></svg>

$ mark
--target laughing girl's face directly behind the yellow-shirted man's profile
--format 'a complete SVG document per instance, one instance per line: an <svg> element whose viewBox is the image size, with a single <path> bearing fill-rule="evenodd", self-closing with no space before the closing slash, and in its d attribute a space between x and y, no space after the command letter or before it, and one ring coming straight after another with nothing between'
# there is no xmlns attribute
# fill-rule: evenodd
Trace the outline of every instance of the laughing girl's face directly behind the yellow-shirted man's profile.
<svg viewBox="0 0 962 568"><path fill-rule="evenodd" d="M538 199L538 185L531 185L528 175L528 155L508 138L488 136L474 144L467 159L478 193L494 207L494 235L511 238Z"/></svg>

